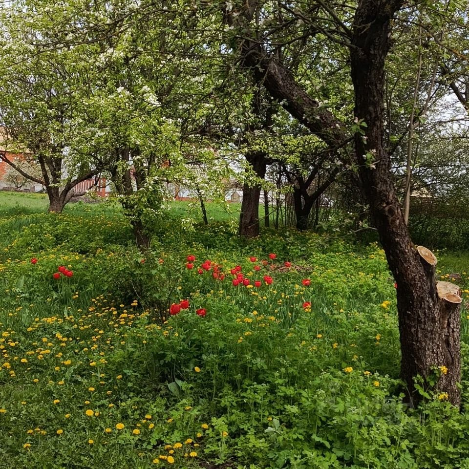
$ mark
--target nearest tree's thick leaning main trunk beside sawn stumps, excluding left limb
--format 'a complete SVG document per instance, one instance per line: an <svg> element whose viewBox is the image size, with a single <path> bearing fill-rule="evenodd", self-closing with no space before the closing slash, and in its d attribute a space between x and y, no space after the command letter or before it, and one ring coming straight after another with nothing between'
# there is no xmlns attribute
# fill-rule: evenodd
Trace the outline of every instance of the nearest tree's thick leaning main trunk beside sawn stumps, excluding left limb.
<svg viewBox="0 0 469 469"><path fill-rule="evenodd" d="M355 134L355 158L362 191L398 284L401 377L407 385L406 400L411 406L418 404L423 397L414 386L414 377L430 379L441 366L448 372L441 374L436 388L459 405L459 319L442 320L434 266L429 268L425 260L421 261L412 244L383 144L384 61L389 48L389 23L401 4L396 0L380 6L374 0L363 0L357 8L350 47L351 76L355 116L367 127L362 128L366 140L359 132Z"/></svg>

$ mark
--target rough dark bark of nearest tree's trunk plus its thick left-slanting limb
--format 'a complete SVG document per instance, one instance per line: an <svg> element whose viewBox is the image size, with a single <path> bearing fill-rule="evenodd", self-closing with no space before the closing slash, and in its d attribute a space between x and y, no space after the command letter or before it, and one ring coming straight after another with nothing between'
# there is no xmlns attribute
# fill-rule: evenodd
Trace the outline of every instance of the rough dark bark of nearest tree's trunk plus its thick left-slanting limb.
<svg viewBox="0 0 469 469"><path fill-rule="evenodd" d="M451 403L459 405L459 316L454 313L451 320L444 319L434 276L421 260L405 225L383 144L384 64L391 37L390 22L403 5L403 0L361 0L353 28L348 31L355 116L368 126L364 128L365 135L354 136L355 163L362 192L398 283L401 377L407 386L406 400L409 405L422 400L414 377L419 375L426 380L438 367L445 367L442 369L448 371L441 373L436 388L448 393ZM321 109L281 63L267 56L261 44L246 40L242 50L243 62L252 68L258 83L282 102L293 117L331 149L347 142L342 123L330 111ZM374 158L371 164L365 164L363 157L367 154Z"/></svg>

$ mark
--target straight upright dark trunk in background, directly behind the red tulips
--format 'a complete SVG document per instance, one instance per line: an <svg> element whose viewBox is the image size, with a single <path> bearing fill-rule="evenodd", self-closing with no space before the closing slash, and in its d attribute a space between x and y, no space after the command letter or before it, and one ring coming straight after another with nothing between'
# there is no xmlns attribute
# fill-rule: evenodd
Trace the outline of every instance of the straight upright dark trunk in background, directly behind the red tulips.
<svg viewBox="0 0 469 469"><path fill-rule="evenodd" d="M246 155L246 159L252 165L256 177L264 179L267 162L265 154L253 151ZM259 197L261 187L258 184L246 182L243 187L243 201L239 215L239 234L247 238L258 236L259 228Z"/></svg>

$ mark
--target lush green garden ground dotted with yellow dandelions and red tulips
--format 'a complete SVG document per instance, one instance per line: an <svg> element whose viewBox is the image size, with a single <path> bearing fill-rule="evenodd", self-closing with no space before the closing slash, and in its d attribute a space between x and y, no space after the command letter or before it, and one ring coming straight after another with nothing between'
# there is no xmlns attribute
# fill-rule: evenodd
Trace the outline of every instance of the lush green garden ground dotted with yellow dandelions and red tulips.
<svg viewBox="0 0 469 469"><path fill-rule="evenodd" d="M168 217L142 255L114 205L3 204L1 468L469 468L464 307L462 411L409 409L377 243Z"/></svg>

